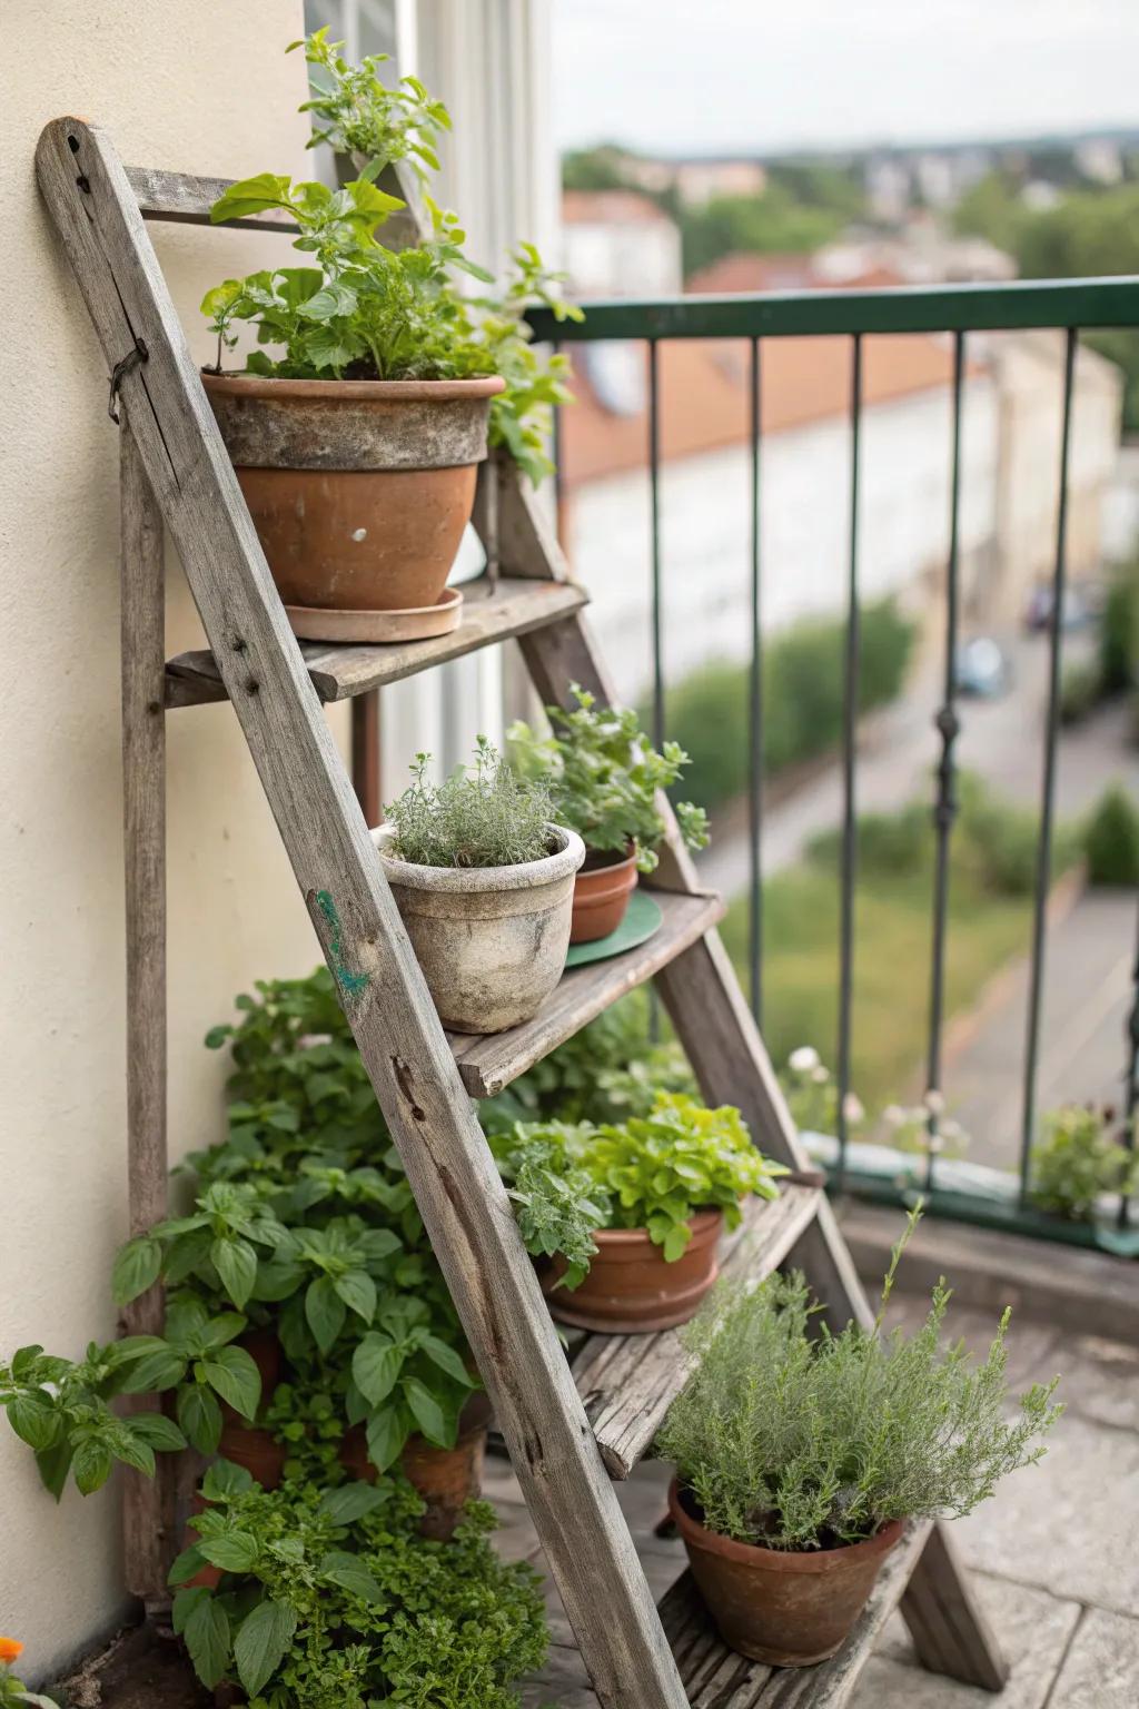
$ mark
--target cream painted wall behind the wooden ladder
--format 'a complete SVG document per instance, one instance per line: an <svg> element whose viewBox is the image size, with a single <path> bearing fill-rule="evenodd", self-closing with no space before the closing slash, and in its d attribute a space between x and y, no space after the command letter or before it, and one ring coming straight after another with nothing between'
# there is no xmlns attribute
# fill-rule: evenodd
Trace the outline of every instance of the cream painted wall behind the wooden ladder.
<svg viewBox="0 0 1139 1709"><path fill-rule="evenodd" d="M0 106L0 1354L79 1354L114 1328L125 1234L116 434L106 366L39 203L32 150L60 113L126 161L244 176L304 169L301 0L26 0ZM154 227L152 227L154 231ZM195 350L208 284L285 239L164 227ZM169 564L171 649L200 629ZM338 730L338 733L342 733ZM229 708L169 718L171 1143L219 1131L207 1025L316 942ZM46 1675L123 1608L113 1490L60 1507L0 1425L0 1630Z"/></svg>

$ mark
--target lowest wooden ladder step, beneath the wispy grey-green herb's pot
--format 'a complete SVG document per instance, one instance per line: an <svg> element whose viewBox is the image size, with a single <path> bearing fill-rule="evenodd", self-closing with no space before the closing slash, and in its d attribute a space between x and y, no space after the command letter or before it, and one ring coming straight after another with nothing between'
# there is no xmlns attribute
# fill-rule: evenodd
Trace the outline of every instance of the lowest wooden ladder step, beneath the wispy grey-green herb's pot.
<svg viewBox="0 0 1139 1709"><path fill-rule="evenodd" d="M907 1524L886 1555L869 1601L837 1656L813 1668L770 1668L727 1649L700 1600L692 1572L676 1579L659 1603L692 1709L838 1709L849 1702L878 1634L898 1606L917 1565L929 1519Z"/></svg>

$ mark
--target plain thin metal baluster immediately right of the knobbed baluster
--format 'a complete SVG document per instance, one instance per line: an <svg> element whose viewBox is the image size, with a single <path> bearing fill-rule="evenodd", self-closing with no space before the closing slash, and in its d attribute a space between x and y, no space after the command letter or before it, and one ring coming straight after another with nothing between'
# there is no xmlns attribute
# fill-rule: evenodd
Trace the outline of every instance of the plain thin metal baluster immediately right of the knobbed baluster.
<svg viewBox="0 0 1139 1709"><path fill-rule="evenodd" d="M1055 749L1060 714L1060 639L1064 634L1064 591L1067 583L1067 470L1072 438L1072 383L1079 330L1067 328L1064 349L1064 422L1060 427L1060 494L1055 518L1055 571L1052 576L1052 617L1048 622L1048 709L1043 738L1043 784L1040 802L1040 839L1037 843L1037 894L1033 899L1031 976L1028 988L1028 1037L1025 1046L1025 1104L1021 1123L1021 1205L1028 1200L1031 1147L1037 1130L1037 1068L1040 1058L1040 1019L1043 1001L1045 925L1048 887L1052 884L1052 820L1055 812Z"/></svg>

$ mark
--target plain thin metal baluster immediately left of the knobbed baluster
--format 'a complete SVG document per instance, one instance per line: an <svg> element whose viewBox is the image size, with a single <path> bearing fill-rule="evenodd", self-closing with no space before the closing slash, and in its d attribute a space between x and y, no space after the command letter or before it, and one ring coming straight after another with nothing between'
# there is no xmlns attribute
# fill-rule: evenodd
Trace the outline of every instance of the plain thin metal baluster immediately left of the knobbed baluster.
<svg viewBox="0 0 1139 1709"><path fill-rule="evenodd" d="M850 1027L854 998L854 880L857 863L857 815L854 759L859 723L859 473L862 455L862 335L856 333L850 357L850 557L847 564L847 658L845 714L842 731L842 914L838 945L838 1167L835 1186L842 1191L847 1174L850 1109Z"/></svg>

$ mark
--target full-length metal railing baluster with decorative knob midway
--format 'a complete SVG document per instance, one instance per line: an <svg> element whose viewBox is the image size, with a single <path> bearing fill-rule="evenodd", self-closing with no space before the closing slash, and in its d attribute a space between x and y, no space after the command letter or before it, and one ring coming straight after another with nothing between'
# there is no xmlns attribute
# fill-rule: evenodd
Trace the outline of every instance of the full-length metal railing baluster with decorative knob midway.
<svg viewBox="0 0 1139 1709"><path fill-rule="evenodd" d="M953 468L949 475L949 559L946 564L946 656L943 701L934 718L941 737L937 762L937 802L934 825L937 836L934 873L934 947L929 984L929 1060L926 1070L927 1154L926 1191L934 1186L934 1159L941 1130L941 1031L944 1024L946 919L949 911L949 836L956 819L956 767L953 745L960 733L956 716L956 639L960 593L960 508L961 508L961 398L965 391L965 333L953 335Z"/></svg>

